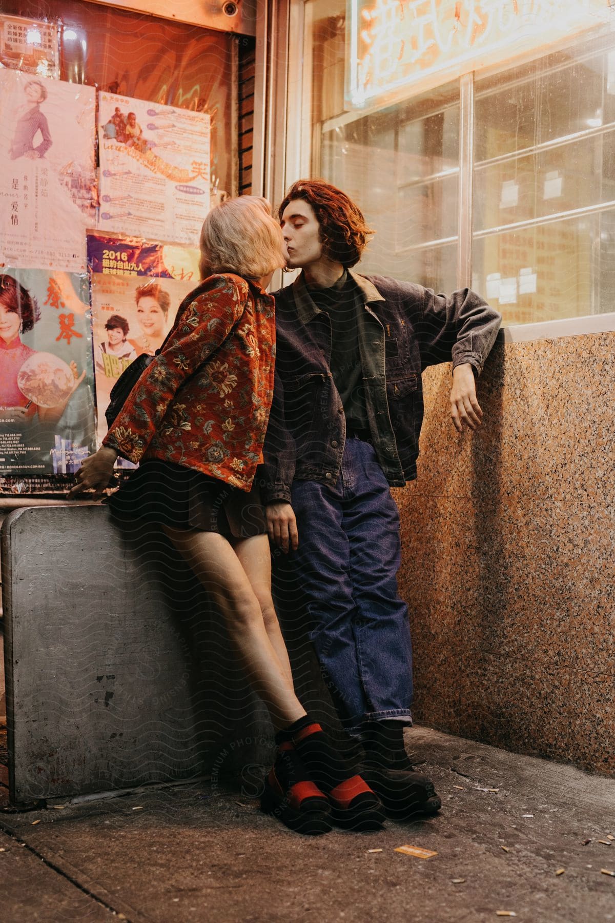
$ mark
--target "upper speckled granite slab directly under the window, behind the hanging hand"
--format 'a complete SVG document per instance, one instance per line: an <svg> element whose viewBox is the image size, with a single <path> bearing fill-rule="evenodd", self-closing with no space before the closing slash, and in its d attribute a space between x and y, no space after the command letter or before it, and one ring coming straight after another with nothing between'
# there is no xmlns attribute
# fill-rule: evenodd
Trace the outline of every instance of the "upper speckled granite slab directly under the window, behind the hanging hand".
<svg viewBox="0 0 615 923"><path fill-rule="evenodd" d="M456 433L450 366L423 377L421 490L596 500L615 492L614 334L498 345L479 379L483 426Z"/></svg>

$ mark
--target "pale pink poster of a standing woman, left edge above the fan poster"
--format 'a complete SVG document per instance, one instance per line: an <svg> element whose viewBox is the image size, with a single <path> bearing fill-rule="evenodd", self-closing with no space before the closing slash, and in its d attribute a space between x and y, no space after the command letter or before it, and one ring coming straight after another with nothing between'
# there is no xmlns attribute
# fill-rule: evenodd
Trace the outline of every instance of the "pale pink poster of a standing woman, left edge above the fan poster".
<svg viewBox="0 0 615 923"><path fill-rule="evenodd" d="M0 70L0 264L86 270L95 91Z"/></svg>

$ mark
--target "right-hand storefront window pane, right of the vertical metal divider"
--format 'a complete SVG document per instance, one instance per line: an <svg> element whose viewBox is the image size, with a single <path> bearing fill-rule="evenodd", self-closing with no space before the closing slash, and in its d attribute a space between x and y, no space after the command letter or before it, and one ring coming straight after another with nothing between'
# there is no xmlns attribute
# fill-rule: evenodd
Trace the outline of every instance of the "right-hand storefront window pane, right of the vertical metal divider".
<svg viewBox="0 0 615 923"><path fill-rule="evenodd" d="M612 310L613 66L582 45L476 82L473 284L510 322Z"/></svg>

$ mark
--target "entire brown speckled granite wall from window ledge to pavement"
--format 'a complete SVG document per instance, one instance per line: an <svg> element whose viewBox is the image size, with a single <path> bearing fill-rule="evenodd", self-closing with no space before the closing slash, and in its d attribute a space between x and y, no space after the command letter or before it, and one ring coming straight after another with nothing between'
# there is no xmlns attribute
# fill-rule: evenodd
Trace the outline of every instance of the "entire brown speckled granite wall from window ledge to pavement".
<svg viewBox="0 0 615 923"><path fill-rule="evenodd" d="M396 490L415 717L615 774L615 333L498 343L483 426L424 375L419 478Z"/></svg>

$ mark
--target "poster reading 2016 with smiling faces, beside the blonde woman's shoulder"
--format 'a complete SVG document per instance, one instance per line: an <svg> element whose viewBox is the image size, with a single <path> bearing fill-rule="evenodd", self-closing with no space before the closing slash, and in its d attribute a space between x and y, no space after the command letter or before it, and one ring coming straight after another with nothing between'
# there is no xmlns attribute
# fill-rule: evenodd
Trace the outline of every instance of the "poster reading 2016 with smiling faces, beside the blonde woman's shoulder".
<svg viewBox="0 0 615 923"><path fill-rule="evenodd" d="M195 248L88 234L99 443L113 385L137 355L161 346L199 282L198 259Z"/></svg>

